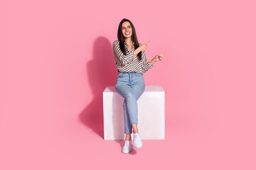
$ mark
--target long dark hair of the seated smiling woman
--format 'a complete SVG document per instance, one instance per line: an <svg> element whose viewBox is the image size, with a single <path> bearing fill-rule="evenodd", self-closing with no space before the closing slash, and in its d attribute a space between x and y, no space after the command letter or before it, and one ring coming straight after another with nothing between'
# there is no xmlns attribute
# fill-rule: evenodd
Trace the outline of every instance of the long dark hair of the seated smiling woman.
<svg viewBox="0 0 256 170"><path fill-rule="evenodd" d="M131 21L129 21L129 19L127 18L123 18L122 21L119 23L118 26L118 30L117 30L117 39L119 40L119 47L120 50L122 51L122 53L124 53L124 55L127 55L124 49L124 35L122 35L122 23L124 23L125 21L128 21L130 23L130 25L132 26L132 42L134 42L134 49L136 50L139 47L139 42L137 40L137 35L136 35L136 31L134 28L134 25L132 24ZM142 60L142 52L139 52L138 55L139 60Z"/></svg>

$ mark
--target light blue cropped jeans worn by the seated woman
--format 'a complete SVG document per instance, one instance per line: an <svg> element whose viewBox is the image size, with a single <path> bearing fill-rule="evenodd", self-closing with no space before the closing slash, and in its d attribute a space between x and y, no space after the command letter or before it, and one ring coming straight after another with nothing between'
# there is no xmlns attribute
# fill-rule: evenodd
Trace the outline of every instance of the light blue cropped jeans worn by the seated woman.
<svg viewBox="0 0 256 170"><path fill-rule="evenodd" d="M145 90L144 77L137 72L119 72L114 88L124 98L124 133L132 134L132 125L138 123L137 100Z"/></svg>

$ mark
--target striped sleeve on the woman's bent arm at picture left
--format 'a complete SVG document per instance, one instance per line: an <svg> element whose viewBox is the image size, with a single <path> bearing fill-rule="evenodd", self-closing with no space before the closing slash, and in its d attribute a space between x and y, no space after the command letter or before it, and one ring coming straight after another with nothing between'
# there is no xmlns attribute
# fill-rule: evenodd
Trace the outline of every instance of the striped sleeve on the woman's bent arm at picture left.
<svg viewBox="0 0 256 170"><path fill-rule="evenodd" d="M135 57L133 51L129 52L127 55L124 55L124 53L121 51L119 47L119 42L117 40L114 40L113 42L113 52L114 56L116 57L116 60L122 65L126 65L132 62L132 60L134 60Z"/></svg>

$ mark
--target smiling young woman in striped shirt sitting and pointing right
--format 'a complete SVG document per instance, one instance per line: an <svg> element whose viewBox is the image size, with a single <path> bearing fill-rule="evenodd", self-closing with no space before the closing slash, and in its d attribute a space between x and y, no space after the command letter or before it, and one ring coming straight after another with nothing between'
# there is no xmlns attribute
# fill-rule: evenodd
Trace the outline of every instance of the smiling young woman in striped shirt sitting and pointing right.
<svg viewBox="0 0 256 170"><path fill-rule="evenodd" d="M124 98L124 133L126 137L122 152L129 153L132 151L132 130L134 132L134 147L142 147L142 140L137 128L137 100L145 90L143 74L154 67L154 62L161 61L164 53L156 55L150 62L147 62L145 50L150 40L144 44L139 43L134 25L126 18L119 23L117 38L118 40L113 42L113 52L119 73L114 88Z"/></svg>

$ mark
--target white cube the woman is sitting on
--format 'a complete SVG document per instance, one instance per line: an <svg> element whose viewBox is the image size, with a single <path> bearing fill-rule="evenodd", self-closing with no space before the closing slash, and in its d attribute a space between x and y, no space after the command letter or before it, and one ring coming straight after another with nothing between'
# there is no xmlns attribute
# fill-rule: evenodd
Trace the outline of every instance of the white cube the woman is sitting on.
<svg viewBox="0 0 256 170"><path fill-rule="evenodd" d="M137 127L142 140L164 140L164 97L162 86L146 86L137 101ZM123 103L114 86L107 86L103 91L104 140L125 139Z"/></svg>

